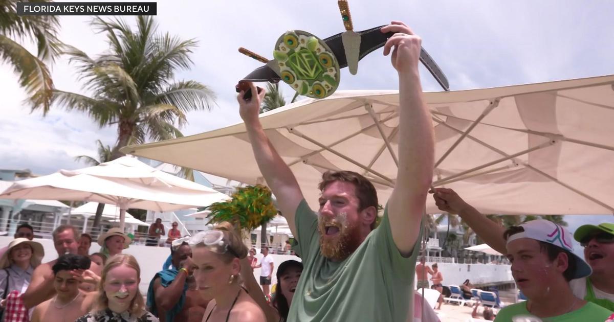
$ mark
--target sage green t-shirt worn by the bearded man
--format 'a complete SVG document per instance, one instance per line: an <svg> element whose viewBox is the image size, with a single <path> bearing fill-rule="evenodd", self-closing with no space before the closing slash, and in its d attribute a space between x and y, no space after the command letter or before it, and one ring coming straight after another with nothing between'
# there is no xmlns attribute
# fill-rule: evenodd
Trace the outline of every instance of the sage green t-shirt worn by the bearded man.
<svg viewBox="0 0 614 322"><path fill-rule="evenodd" d="M288 321L406 321L413 307L411 294L420 243L416 242L408 258L399 253L392 240L387 206L379 227L341 262L330 261L320 253L317 215L305 200L298 205L295 220L297 250L304 269Z"/></svg>

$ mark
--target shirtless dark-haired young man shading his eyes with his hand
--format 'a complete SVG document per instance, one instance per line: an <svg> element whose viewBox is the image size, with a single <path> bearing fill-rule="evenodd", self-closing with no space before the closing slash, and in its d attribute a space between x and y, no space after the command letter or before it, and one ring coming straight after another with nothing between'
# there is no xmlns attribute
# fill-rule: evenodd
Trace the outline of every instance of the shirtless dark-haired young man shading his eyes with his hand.
<svg viewBox="0 0 614 322"><path fill-rule="evenodd" d="M52 299L36 305L32 322L72 322L90 310L97 293L84 293L74 270L90 267L90 259L80 255L63 255L53 264L53 288L57 293Z"/></svg>

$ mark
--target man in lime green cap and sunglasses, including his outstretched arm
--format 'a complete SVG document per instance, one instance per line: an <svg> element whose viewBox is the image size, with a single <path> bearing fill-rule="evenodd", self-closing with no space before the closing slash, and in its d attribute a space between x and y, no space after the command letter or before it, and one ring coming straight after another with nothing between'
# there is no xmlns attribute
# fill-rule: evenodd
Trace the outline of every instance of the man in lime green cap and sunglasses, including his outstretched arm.
<svg viewBox="0 0 614 322"><path fill-rule="evenodd" d="M449 188L434 188L435 205L448 213L458 214L490 247L499 253L507 253L504 228L489 220L478 210L467 204L456 191ZM593 269L590 277L570 281L573 295L614 310L614 224L602 223L597 226L580 226L573 237L584 247L586 262Z"/></svg>

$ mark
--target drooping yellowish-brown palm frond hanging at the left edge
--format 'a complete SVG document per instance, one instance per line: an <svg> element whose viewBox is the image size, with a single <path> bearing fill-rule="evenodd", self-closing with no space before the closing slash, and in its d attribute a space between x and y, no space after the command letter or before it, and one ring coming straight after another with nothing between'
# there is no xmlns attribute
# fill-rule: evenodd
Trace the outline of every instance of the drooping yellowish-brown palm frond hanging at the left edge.
<svg viewBox="0 0 614 322"><path fill-rule="evenodd" d="M19 84L28 93L32 110L49 112L53 98L53 80L45 63L9 37L0 34L0 58L9 61L18 74Z"/></svg>

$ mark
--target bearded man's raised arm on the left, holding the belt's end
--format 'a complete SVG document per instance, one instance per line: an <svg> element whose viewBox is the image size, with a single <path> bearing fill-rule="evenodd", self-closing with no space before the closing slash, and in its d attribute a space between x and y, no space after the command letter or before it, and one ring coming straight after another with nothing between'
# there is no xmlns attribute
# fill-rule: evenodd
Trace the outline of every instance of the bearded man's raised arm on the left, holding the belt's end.
<svg viewBox="0 0 614 322"><path fill-rule="evenodd" d="M260 112L260 102L265 97L265 90L258 94L254 83L247 83L254 95L249 101L243 99L245 91L241 91L237 97L239 101L239 112L247 128L247 136L254 150L254 157L258 163L258 169L266 180L266 183L277 198L279 210L282 216L288 221L290 231L294 236L298 236L295 226L294 215L298 204L303 200L303 193L298 186L297 178L279 156L271 141L266 137L266 133L260 124L258 113Z"/></svg>

